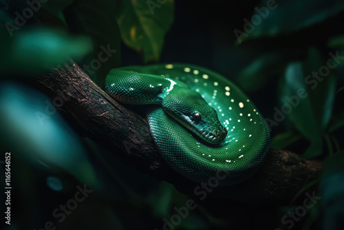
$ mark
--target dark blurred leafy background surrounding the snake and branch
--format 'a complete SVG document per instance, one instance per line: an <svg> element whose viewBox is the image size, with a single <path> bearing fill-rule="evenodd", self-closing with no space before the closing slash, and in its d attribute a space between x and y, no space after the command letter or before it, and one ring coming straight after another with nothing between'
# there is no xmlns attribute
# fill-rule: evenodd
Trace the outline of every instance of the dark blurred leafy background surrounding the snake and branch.
<svg viewBox="0 0 344 230"><path fill-rule="evenodd" d="M3 229L41 229L49 220L56 229L162 229L188 200L78 136L54 99L26 82L69 58L100 87L114 67L155 62L204 65L228 76L267 118L271 147L325 160L321 204L294 229L339 229L343 6L341 0L0 0L0 143L1 152L12 151L15 188L12 225ZM2 169L0 162L1 181ZM59 222L54 209L85 184L92 195ZM175 229L288 229L281 218L292 205L211 211L200 202Z"/></svg>

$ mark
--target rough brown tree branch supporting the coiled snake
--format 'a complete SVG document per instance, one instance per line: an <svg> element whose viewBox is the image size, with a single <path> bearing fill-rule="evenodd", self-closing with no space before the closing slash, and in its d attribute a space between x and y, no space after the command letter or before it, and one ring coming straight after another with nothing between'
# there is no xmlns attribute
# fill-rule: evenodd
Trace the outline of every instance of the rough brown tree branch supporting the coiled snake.
<svg viewBox="0 0 344 230"><path fill-rule="evenodd" d="M61 113L80 135L88 136L127 163L158 180L173 183L191 197L195 182L171 169L158 153L145 119L110 98L73 61L34 76L34 85L53 99L63 101ZM207 200L286 205L309 182L319 178L322 165L290 151L270 149L264 165L239 185L206 191Z"/></svg>

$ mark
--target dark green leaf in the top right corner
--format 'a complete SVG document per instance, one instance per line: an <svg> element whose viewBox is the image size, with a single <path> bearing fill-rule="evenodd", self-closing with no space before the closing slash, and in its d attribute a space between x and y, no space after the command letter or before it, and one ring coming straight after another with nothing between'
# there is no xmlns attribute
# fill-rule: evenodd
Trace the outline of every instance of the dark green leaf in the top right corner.
<svg viewBox="0 0 344 230"><path fill-rule="evenodd" d="M344 9L344 4L338 0L262 0L257 8L252 13L252 16L257 16L253 20L248 19L254 27L252 32L250 29L246 32L249 38L286 34L309 27L338 14Z"/></svg>

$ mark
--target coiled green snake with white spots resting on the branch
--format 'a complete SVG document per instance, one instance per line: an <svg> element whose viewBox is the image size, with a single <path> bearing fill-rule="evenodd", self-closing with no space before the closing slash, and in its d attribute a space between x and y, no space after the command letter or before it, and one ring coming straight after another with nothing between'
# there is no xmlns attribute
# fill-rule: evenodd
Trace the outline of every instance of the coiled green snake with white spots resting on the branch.
<svg viewBox="0 0 344 230"><path fill-rule="evenodd" d="M254 175L270 145L263 116L221 74L196 65L113 69L106 92L121 103L151 105L151 135L162 158L194 182L235 185Z"/></svg>

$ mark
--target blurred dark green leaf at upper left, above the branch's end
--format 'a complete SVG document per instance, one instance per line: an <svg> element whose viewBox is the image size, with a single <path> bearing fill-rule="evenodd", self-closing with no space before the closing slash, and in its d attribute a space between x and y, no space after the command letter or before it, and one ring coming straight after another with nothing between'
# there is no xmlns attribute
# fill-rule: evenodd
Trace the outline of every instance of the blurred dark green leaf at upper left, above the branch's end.
<svg viewBox="0 0 344 230"><path fill-rule="evenodd" d="M80 60L90 52L89 39L69 36L65 32L43 27L21 28L12 38L0 43L0 72L37 73L65 63Z"/></svg>

